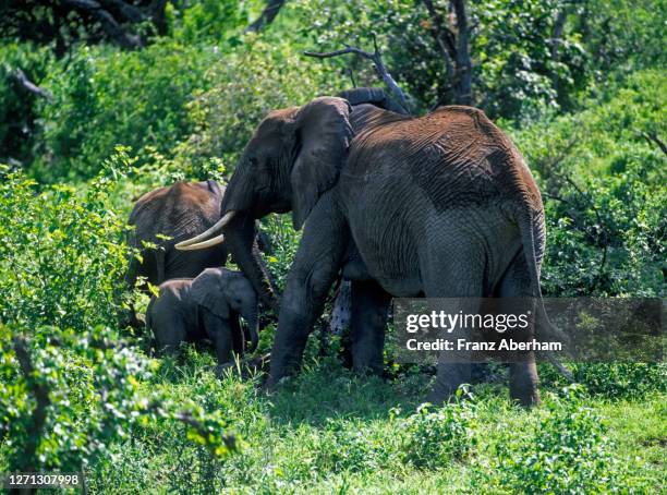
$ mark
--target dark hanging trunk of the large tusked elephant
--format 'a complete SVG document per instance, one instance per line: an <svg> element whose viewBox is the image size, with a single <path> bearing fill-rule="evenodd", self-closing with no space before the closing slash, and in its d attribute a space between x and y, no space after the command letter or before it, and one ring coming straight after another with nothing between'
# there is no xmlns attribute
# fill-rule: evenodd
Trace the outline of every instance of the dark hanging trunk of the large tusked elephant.
<svg viewBox="0 0 667 495"><path fill-rule="evenodd" d="M248 278L260 301L272 310L278 309L278 291L271 275L255 244L255 221L250 215L239 214L225 229L229 252L243 274Z"/></svg>

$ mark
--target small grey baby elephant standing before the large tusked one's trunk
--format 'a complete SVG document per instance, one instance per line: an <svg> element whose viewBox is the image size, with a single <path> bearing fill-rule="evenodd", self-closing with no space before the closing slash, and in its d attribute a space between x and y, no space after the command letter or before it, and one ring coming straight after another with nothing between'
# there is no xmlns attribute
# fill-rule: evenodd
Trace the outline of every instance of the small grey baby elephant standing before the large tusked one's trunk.
<svg viewBox="0 0 667 495"><path fill-rule="evenodd" d="M247 324L241 328L239 316ZM159 287L146 311L146 324L158 349L173 353L183 341L209 338L216 347L218 364L257 347L257 295L241 271L206 268L196 278L167 280ZM246 349L246 340L250 347Z"/></svg>

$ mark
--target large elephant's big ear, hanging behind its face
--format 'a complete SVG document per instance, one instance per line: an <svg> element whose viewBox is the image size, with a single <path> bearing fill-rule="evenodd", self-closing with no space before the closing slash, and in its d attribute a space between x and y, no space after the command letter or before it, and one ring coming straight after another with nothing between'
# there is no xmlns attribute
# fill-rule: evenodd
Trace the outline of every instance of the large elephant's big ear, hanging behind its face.
<svg viewBox="0 0 667 495"><path fill-rule="evenodd" d="M294 119L300 145L290 176L292 219L301 229L319 196L338 180L353 132L350 104L336 97L315 98Z"/></svg>

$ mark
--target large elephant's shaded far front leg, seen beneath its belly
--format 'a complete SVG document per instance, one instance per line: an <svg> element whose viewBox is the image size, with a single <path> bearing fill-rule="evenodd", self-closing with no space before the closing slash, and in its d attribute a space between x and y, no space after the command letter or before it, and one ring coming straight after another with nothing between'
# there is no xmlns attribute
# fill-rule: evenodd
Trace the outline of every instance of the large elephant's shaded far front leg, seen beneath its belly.
<svg viewBox="0 0 667 495"><path fill-rule="evenodd" d="M356 373L383 373L385 326L391 295L375 280L352 281L352 363Z"/></svg>

